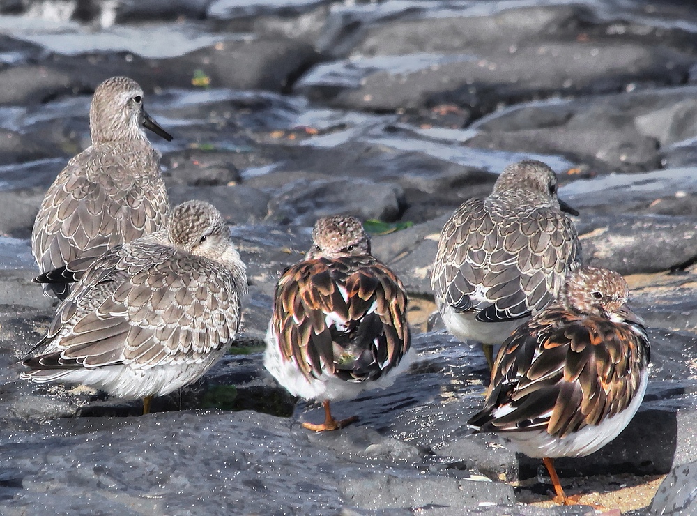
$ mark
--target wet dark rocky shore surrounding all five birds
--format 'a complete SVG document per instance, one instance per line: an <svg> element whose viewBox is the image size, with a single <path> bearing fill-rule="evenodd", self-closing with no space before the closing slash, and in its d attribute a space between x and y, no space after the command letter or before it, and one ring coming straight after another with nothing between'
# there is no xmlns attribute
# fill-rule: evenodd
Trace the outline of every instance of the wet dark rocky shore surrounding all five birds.
<svg viewBox="0 0 697 516"><path fill-rule="evenodd" d="M431 313L443 223L523 158L559 173L585 261L625 275L650 327L641 410L610 446L558 460L565 489L601 503L629 490L633 516L697 510L691 3L23 0L0 13L15 16L0 17L0 513L592 515L530 505L551 491L539 462L468 430L484 357ZM230 353L145 417L18 378L54 312L31 283L33 218L89 145L90 96L112 75L137 79L174 135L153 137L172 202L220 209L250 281ZM358 424L309 434L298 422L321 407L279 388L261 350L279 273L333 213L377 220L418 359L391 388L335 404ZM641 487L661 476L652 501Z"/></svg>

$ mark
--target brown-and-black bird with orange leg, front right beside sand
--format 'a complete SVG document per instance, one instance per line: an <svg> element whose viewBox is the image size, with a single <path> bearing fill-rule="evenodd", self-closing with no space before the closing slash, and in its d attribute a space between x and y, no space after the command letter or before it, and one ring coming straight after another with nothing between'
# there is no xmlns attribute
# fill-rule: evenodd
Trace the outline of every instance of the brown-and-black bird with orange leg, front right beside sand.
<svg viewBox="0 0 697 516"><path fill-rule="evenodd" d="M644 397L649 342L628 296L618 273L593 267L571 273L558 302L503 343L484 409L468 421L542 458L556 501L565 505L574 500L562 490L553 458L583 457L605 446Z"/></svg>

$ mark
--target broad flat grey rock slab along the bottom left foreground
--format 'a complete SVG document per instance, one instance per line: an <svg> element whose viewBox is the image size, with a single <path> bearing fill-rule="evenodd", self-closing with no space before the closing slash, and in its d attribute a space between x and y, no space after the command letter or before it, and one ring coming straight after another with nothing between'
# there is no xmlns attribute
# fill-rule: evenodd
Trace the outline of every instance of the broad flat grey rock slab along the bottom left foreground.
<svg viewBox="0 0 697 516"><path fill-rule="evenodd" d="M3 513L319 514L514 500L503 484L340 461L291 420L249 411L64 419L45 430L51 437L0 437Z"/></svg>

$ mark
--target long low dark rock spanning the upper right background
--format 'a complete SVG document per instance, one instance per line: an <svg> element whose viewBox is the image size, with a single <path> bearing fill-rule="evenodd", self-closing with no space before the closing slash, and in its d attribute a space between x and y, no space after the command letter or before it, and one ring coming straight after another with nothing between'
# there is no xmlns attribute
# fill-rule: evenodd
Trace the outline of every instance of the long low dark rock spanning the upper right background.
<svg viewBox="0 0 697 516"><path fill-rule="evenodd" d="M635 73L611 74L627 61ZM486 114L498 103L544 98L558 90L604 93L619 91L628 82L680 84L687 66L687 56L631 43L542 43L519 47L513 54L406 54L328 63L302 77L294 91L350 109L397 111L454 104Z"/></svg>

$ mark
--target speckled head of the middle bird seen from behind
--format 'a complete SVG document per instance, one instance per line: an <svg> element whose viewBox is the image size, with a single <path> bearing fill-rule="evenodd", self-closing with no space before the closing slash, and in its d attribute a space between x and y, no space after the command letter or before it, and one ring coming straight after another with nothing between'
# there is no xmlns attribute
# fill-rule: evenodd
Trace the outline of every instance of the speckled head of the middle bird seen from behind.
<svg viewBox="0 0 697 516"><path fill-rule="evenodd" d="M312 258L335 258L370 254L370 238L355 217L332 215L315 222L312 229L314 249L307 254Z"/></svg>

